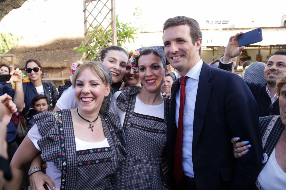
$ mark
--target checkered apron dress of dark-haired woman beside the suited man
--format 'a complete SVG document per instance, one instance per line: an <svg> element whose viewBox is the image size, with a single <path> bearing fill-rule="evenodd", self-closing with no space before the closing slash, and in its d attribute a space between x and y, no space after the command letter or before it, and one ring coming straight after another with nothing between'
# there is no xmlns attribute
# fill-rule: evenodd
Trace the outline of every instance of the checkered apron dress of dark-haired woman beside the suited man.
<svg viewBox="0 0 286 190"><path fill-rule="evenodd" d="M166 145L169 102L164 99L164 119L138 114L134 112L134 107L139 91L133 91L135 94L129 96L130 92L126 89L121 95L129 97L123 124L128 154L119 172L112 178L112 186L120 190L168 189L168 180L162 173L161 164Z"/></svg>

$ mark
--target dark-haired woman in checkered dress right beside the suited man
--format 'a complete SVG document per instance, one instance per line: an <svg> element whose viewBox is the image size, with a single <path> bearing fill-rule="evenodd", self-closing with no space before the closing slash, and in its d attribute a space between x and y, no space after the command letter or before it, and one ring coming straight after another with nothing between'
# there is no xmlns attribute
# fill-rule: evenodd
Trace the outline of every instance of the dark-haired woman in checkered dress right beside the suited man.
<svg viewBox="0 0 286 190"><path fill-rule="evenodd" d="M142 89L129 86L114 94L109 111L120 119L128 154L111 182L114 189L168 189L162 171L169 102L161 95L166 68L163 46L134 52Z"/></svg>

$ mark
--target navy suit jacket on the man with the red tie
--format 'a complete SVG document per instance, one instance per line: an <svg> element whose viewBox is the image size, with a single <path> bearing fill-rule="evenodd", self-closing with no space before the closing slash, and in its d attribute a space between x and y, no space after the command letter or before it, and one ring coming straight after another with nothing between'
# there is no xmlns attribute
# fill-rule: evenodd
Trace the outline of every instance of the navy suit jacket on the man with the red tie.
<svg viewBox="0 0 286 190"><path fill-rule="evenodd" d="M167 128L167 155L171 174L177 133L175 95L179 89L177 79L172 86ZM240 97L239 100L237 97ZM233 156L233 137L240 137L241 141L249 140L251 144L249 152L239 159ZM197 189L253 188L262 160L259 115L257 103L241 77L203 63L190 148Z"/></svg>

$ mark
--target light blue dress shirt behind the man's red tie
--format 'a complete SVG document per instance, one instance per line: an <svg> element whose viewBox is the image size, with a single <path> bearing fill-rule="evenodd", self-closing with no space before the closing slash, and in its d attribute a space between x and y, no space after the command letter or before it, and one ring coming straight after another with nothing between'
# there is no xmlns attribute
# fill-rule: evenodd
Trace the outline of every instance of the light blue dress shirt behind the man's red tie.
<svg viewBox="0 0 286 190"><path fill-rule="evenodd" d="M186 101L184 106L183 122L183 144L182 144L182 165L184 174L188 177L194 177L194 168L192 162L192 142L194 127L194 110L196 104L196 94L198 90L198 79L202 69L202 60L199 60L186 74L189 78L186 80ZM179 81L180 81L179 76ZM180 88L176 92L176 125L178 126L180 109Z"/></svg>

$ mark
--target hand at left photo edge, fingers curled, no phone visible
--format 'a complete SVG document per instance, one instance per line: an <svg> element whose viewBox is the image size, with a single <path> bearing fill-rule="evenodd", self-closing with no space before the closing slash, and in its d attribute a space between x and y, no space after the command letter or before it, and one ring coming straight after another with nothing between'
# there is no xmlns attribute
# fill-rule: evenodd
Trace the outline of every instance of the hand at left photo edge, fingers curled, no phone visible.
<svg viewBox="0 0 286 190"><path fill-rule="evenodd" d="M0 96L0 120L5 126L11 120L12 114L17 111L16 105L13 103L11 96L3 94Z"/></svg>

